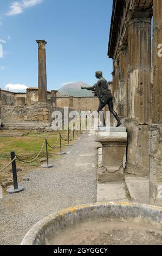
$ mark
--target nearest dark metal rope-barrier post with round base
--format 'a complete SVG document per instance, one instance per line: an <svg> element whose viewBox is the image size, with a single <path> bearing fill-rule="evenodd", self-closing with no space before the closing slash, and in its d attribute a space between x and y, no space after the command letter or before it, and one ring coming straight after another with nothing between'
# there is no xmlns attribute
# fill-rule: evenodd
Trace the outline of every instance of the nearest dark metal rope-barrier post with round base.
<svg viewBox="0 0 162 256"><path fill-rule="evenodd" d="M11 152L11 160L15 159L15 152ZM12 162L12 175L13 175L13 180L14 180L14 186L11 186L7 189L7 192L10 194L13 193L18 193L24 190L23 186L18 186L17 182L17 170L16 170L16 160Z"/></svg>

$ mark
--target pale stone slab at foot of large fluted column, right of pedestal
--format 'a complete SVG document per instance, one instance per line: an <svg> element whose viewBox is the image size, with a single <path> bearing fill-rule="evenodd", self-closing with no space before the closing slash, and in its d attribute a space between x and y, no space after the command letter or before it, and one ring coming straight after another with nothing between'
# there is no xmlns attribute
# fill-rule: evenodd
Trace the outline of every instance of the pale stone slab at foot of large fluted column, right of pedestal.
<svg viewBox="0 0 162 256"><path fill-rule="evenodd" d="M125 182L133 202L150 204L149 178L137 178L125 175Z"/></svg>

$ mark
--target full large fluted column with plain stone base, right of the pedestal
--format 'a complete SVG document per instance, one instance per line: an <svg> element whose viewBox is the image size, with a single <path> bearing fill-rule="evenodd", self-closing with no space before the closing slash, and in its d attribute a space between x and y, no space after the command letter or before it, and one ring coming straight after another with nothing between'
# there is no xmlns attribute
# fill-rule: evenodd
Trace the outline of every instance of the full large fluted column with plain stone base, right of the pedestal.
<svg viewBox="0 0 162 256"><path fill-rule="evenodd" d="M152 9L135 8L128 23L128 133L126 172L149 175Z"/></svg>

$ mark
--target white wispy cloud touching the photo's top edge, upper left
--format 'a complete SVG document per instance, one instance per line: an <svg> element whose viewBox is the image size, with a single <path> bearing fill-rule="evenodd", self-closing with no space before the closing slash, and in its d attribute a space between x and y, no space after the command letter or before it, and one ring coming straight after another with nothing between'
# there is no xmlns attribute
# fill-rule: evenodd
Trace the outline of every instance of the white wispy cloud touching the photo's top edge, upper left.
<svg viewBox="0 0 162 256"><path fill-rule="evenodd" d="M41 2L43 2L43 0L22 0L20 2L12 2L9 11L7 12L7 15L13 16L21 14L23 13L24 9L33 7L37 4L40 4Z"/></svg>

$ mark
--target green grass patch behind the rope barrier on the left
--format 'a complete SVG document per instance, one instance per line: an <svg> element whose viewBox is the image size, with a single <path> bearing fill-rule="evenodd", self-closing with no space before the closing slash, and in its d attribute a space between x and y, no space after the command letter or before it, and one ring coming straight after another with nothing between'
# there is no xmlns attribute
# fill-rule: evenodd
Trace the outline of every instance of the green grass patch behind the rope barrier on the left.
<svg viewBox="0 0 162 256"><path fill-rule="evenodd" d="M67 131L61 131L62 137L65 137ZM0 167L4 166L5 161L10 161L10 152L15 151L15 153L21 157L21 159L30 161L36 157L39 153L44 139L48 140L48 143L53 146L57 138L59 136L59 131L55 131L52 133L40 133L34 134L33 132L29 132L27 135L23 137L1 137L0 138ZM70 135L73 137L73 135ZM76 136L76 135L75 135ZM62 147L65 147L67 144L66 141L62 141ZM59 141L57 143L59 147ZM48 148L49 157L52 157L56 151L60 149L51 149ZM39 157L46 157L46 147L44 146L42 153ZM34 165L37 165L39 160L36 160Z"/></svg>

